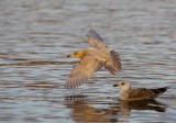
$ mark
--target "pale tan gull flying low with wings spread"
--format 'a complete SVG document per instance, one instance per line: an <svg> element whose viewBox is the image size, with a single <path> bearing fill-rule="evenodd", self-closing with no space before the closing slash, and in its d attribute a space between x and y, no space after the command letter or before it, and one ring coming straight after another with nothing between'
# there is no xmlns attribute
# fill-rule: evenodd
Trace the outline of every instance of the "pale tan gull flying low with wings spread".
<svg viewBox="0 0 176 123"><path fill-rule="evenodd" d="M89 46L67 56L80 59L69 74L65 85L67 89L77 88L87 82L102 67L113 75L121 70L119 54L109 49L98 33L90 30L86 36L88 37Z"/></svg>

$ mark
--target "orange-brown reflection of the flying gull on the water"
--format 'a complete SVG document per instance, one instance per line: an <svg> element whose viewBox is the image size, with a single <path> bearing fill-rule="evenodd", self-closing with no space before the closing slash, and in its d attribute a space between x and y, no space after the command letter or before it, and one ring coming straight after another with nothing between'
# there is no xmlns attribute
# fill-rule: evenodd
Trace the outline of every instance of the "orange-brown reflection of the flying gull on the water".
<svg viewBox="0 0 176 123"><path fill-rule="evenodd" d="M118 119L110 118L112 109L95 108L96 102L90 102L86 97L66 97L65 104L72 109L70 118L76 122L117 122ZM69 100L70 99L70 100ZM99 103L99 102L98 102ZM101 103L100 103L101 104ZM103 104L103 103L102 103Z"/></svg>

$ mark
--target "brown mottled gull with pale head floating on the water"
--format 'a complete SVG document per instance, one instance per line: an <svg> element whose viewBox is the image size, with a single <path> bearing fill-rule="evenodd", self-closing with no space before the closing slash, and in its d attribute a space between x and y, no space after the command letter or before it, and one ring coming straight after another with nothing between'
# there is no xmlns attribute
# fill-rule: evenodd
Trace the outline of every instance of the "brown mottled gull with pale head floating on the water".
<svg viewBox="0 0 176 123"><path fill-rule="evenodd" d="M156 88L156 89L145 89L138 88L132 89L131 83L127 81L118 82L113 87L120 87L119 99L125 101L136 101L136 100L150 100L164 93L168 87Z"/></svg>

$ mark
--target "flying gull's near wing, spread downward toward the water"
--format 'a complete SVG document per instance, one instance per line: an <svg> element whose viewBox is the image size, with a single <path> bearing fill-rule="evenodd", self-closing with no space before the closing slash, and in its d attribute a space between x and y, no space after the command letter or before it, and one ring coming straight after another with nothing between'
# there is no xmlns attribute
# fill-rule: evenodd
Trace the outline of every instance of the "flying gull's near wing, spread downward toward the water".
<svg viewBox="0 0 176 123"><path fill-rule="evenodd" d="M72 89L85 83L103 65L92 56L84 57L70 71L65 88Z"/></svg>

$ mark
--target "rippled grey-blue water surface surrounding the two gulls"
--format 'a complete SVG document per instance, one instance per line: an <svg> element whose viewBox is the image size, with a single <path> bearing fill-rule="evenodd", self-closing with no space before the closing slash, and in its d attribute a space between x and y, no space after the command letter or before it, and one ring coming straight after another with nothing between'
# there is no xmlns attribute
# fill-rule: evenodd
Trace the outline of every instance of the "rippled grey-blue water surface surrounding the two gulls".
<svg viewBox="0 0 176 123"><path fill-rule="evenodd" d="M63 89L96 30L121 55L117 77L105 69L88 83ZM175 0L1 0L0 121L2 123L175 122ZM118 100L119 80L172 86L151 102Z"/></svg>

